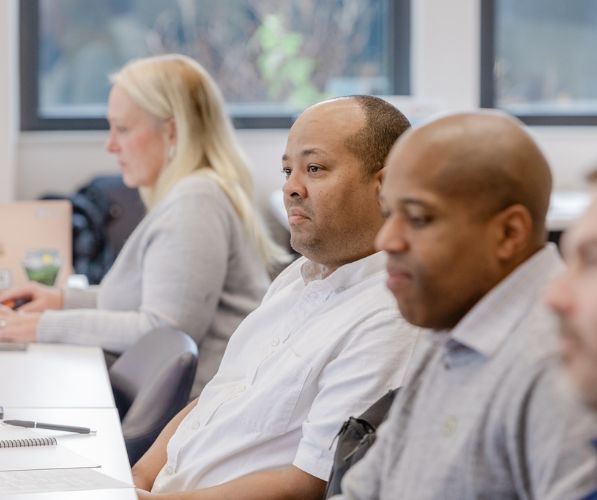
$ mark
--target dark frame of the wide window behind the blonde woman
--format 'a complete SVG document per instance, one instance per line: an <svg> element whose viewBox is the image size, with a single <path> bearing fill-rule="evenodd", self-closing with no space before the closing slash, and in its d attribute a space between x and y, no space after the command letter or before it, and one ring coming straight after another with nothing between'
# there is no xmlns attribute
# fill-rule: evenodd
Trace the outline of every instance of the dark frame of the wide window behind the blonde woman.
<svg viewBox="0 0 597 500"><path fill-rule="evenodd" d="M411 0L389 0L388 65L394 94L411 90ZM39 0L19 2L20 129L22 131L107 130L105 118L44 118L39 103ZM237 129L284 129L296 118L287 114L233 115Z"/></svg>

